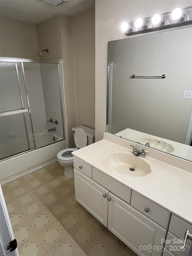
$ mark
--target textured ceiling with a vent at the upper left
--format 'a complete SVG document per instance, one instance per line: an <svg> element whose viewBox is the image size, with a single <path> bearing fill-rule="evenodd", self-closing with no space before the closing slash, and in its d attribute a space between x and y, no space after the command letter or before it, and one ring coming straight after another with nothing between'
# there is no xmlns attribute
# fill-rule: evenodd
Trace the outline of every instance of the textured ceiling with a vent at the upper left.
<svg viewBox="0 0 192 256"><path fill-rule="evenodd" d="M95 6L94 0L66 0L53 6L41 0L0 0L3 18L38 24L58 14L73 16Z"/></svg>

